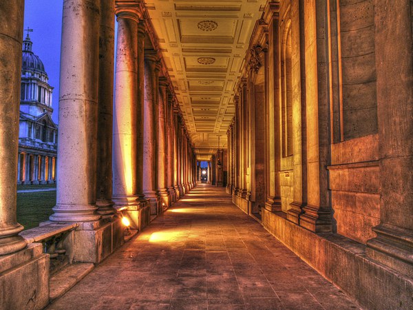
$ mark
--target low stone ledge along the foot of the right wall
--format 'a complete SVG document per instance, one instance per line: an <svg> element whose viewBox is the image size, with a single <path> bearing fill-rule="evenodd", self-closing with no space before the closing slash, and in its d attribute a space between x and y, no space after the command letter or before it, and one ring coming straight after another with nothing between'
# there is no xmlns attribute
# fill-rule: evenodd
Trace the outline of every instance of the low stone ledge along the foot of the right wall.
<svg viewBox="0 0 413 310"><path fill-rule="evenodd" d="M413 309L413 280L374 262L366 247L337 234L314 234L262 209L275 238L366 309Z"/></svg>

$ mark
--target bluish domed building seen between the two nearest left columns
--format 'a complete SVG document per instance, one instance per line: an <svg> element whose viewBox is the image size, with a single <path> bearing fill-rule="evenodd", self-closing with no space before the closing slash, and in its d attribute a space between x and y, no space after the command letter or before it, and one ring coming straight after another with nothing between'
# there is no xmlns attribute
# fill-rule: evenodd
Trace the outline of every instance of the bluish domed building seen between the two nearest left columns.
<svg viewBox="0 0 413 310"><path fill-rule="evenodd" d="M17 183L54 183L57 125L52 121L53 87L43 62L32 52L29 33L23 41L21 68L19 166Z"/></svg>

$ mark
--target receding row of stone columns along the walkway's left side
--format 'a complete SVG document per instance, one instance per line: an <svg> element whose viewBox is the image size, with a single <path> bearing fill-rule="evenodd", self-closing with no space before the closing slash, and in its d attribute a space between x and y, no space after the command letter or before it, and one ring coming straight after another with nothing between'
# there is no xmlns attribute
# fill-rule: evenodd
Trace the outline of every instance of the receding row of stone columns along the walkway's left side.
<svg viewBox="0 0 413 310"><path fill-rule="evenodd" d="M25 247L18 235L23 227L16 220L16 185L10 180L17 179L18 165L23 182L53 180L54 158L39 158L48 168L43 170L47 176L40 174L39 179L30 155L17 154L23 1L1 6L14 17L0 29L6 34L1 36L1 46L8 47L1 50L2 59L8 59L1 74L10 76L0 90L7 103L1 106L1 130L10 133L0 139L3 255ZM125 208L150 208L153 218L195 185L189 134L147 18L142 5L130 1L63 4L59 160L52 222L116 220L116 210ZM145 46L148 41L151 46Z"/></svg>

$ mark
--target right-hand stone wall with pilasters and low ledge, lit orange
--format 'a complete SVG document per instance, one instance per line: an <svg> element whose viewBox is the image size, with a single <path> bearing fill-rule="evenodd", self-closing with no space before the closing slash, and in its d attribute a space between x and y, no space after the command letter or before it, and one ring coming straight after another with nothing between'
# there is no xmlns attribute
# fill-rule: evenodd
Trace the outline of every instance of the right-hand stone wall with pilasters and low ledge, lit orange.
<svg viewBox="0 0 413 310"><path fill-rule="evenodd" d="M227 132L233 203L372 308L413 276L410 9L268 2Z"/></svg>

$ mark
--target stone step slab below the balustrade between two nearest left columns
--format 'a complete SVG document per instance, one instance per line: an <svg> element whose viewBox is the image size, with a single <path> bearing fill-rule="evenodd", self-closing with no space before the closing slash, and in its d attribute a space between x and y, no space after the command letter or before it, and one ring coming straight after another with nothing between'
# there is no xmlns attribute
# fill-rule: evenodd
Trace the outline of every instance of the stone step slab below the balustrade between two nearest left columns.
<svg viewBox="0 0 413 310"><path fill-rule="evenodd" d="M50 302L63 296L64 293L72 289L77 282L85 278L87 273L94 269L94 264L89 262L77 262L56 272L50 278Z"/></svg>

